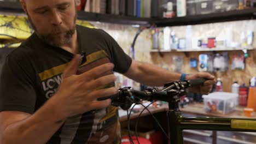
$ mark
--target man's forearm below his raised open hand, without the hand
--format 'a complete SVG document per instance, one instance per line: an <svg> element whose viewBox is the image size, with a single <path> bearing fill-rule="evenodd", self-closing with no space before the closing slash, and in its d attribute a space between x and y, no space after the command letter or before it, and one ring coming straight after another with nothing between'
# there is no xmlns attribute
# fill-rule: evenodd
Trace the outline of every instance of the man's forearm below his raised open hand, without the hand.
<svg viewBox="0 0 256 144"><path fill-rule="evenodd" d="M3 144L46 143L64 122L58 115L53 106L46 103L30 117L8 125L2 135Z"/></svg>

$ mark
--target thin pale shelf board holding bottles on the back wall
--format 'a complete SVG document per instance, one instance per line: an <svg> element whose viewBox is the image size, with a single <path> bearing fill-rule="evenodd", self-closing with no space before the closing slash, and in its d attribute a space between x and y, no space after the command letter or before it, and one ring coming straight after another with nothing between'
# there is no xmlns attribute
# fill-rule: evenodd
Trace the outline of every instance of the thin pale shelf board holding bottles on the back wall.
<svg viewBox="0 0 256 144"><path fill-rule="evenodd" d="M247 50L256 50L254 47L248 47ZM205 48L205 49L178 49L178 50L151 50L150 52L197 52L197 51L242 51L243 48Z"/></svg>

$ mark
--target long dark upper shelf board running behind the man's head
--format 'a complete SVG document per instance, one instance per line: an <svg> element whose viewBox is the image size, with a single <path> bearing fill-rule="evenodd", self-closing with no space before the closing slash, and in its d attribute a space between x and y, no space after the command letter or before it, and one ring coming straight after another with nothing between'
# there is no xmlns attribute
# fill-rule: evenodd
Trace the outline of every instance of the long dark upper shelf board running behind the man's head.
<svg viewBox="0 0 256 144"><path fill-rule="evenodd" d="M19 2L0 2L0 11L7 13L24 13ZM141 18L110 14L85 13L78 11L78 19L87 21L101 21L119 23L126 25L150 26L153 23L158 27L197 25L202 23L238 21L256 19L256 8L225 11L223 13L212 13L185 17L174 17L171 19Z"/></svg>

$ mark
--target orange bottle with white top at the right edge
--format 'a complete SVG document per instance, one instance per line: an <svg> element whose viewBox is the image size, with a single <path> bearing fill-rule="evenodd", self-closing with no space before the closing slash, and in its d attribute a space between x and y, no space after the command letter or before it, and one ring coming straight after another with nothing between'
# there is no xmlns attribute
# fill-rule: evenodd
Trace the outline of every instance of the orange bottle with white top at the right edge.
<svg viewBox="0 0 256 144"><path fill-rule="evenodd" d="M256 111L256 77L253 77L250 81L247 108L254 109Z"/></svg>

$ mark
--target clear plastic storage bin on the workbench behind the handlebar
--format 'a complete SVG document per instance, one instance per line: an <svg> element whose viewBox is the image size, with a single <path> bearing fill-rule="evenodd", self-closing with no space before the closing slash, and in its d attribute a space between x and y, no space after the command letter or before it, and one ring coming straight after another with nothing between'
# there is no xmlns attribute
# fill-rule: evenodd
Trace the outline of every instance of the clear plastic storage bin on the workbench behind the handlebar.
<svg viewBox="0 0 256 144"><path fill-rule="evenodd" d="M206 112L226 114L234 111L237 106L238 94L235 93L214 92L202 97Z"/></svg>

